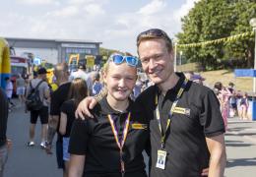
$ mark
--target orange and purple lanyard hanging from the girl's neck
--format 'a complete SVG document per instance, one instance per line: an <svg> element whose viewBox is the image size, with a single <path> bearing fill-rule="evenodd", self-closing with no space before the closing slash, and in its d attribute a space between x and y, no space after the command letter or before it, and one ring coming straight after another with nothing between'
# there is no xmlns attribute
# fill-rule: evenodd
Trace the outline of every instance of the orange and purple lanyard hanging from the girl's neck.
<svg viewBox="0 0 256 177"><path fill-rule="evenodd" d="M123 160L123 146L124 146L127 134L128 134L128 128L129 128L131 113L130 112L128 113L128 116L125 120L123 134L122 134L121 139L119 139L119 137L118 137L118 131L117 131L117 128L114 124L114 121L113 121L111 115L108 114L107 117L108 117L108 120L110 122L112 132L114 134L114 139L115 139L116 145L120 149L120 164L121 164L121 173L122 173L122 176L123 176L124 172L125 172L124 160Z"/></svg>

